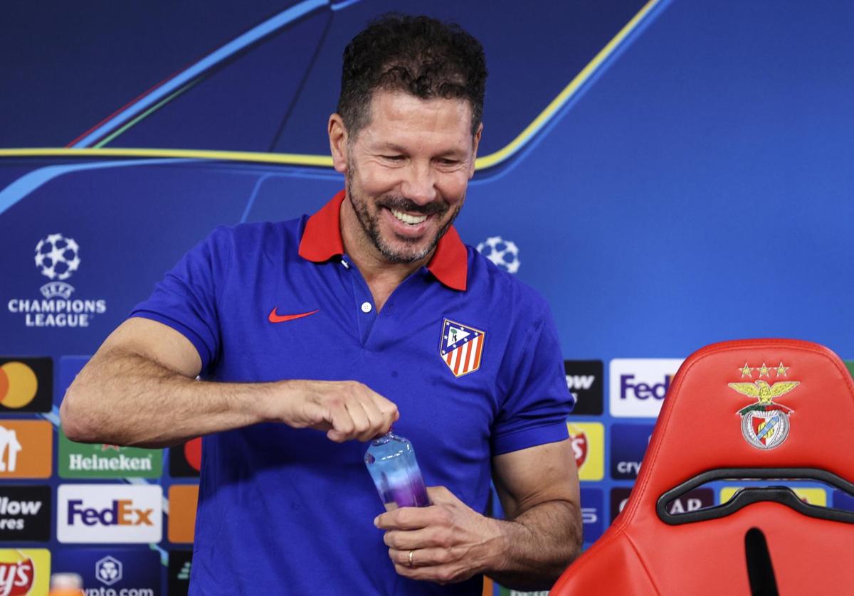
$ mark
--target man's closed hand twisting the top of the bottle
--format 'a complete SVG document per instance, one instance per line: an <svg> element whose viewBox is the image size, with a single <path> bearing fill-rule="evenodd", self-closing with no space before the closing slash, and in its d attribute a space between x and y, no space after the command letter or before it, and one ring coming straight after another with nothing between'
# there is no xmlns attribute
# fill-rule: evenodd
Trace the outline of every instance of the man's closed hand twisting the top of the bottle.
<svg viewBox="0 0 854 596"><path fill-rule="evenodd" d="M400 418L395 404L355 381L283 381L274 383L266 398L261 406L266 420L325 430L338 443L370 441Z"/></svg>

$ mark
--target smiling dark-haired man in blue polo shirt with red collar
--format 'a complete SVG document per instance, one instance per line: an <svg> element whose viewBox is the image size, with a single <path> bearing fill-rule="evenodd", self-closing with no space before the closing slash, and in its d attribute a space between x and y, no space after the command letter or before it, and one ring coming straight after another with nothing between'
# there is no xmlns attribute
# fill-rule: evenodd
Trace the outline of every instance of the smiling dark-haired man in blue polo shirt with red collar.
<svg viewBox="0 0 854 596"><path fill-rule="evenodd" d="M191 593L547 588L576 556L551 316L452 227L485 79L459 27L371 24L329 120L346 190L310 218L214 231L68 390L75 441L205 435ZM382 513L358 441L393 423L441 485L431 506ZM490 475L507 521L482 515Z"/></svg>

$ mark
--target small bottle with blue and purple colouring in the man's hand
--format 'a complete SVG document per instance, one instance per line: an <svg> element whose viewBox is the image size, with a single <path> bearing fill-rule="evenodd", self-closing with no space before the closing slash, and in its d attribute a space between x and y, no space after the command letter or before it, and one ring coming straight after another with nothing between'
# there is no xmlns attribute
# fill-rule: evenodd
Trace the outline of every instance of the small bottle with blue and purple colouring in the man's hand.
<svg viewBox="0 0 854 596"><path fill-rule="evenodd" d="M430 505L412 443L389 432L371 441L365 465L386 511Z"/></svg>

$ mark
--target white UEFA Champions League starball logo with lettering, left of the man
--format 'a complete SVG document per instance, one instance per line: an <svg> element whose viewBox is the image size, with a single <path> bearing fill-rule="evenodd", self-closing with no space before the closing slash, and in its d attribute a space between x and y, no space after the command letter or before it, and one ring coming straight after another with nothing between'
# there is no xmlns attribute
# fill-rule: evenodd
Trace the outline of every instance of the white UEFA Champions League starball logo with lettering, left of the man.
<svg viewBox="0 0 854 596"><path fill-rule="evenodd" d="M72 300L75 289L65 280L80 267L80 245L72 237L49 234L36 244L35 265L50 279L39 291L44 300L13 298L9 313L22 313L27 327L88 327L91 318L107 311L105 300Z"/></svg>

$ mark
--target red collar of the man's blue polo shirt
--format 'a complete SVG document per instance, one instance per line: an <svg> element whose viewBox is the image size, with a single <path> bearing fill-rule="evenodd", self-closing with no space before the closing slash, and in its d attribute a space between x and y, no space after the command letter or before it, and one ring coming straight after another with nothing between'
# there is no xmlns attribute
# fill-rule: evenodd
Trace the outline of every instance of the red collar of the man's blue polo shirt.
<svg viewBox="0 0 854 596"><path fill-rule="evenodd" d="M344 242L341 239L342 202L343 190L308 218L300 241L300 256L303 259L321 263L336 254L344 254ZM448 288L465 290L468 254L453 225L436 244L436 252L427 264L427 269Z"/></svg>

